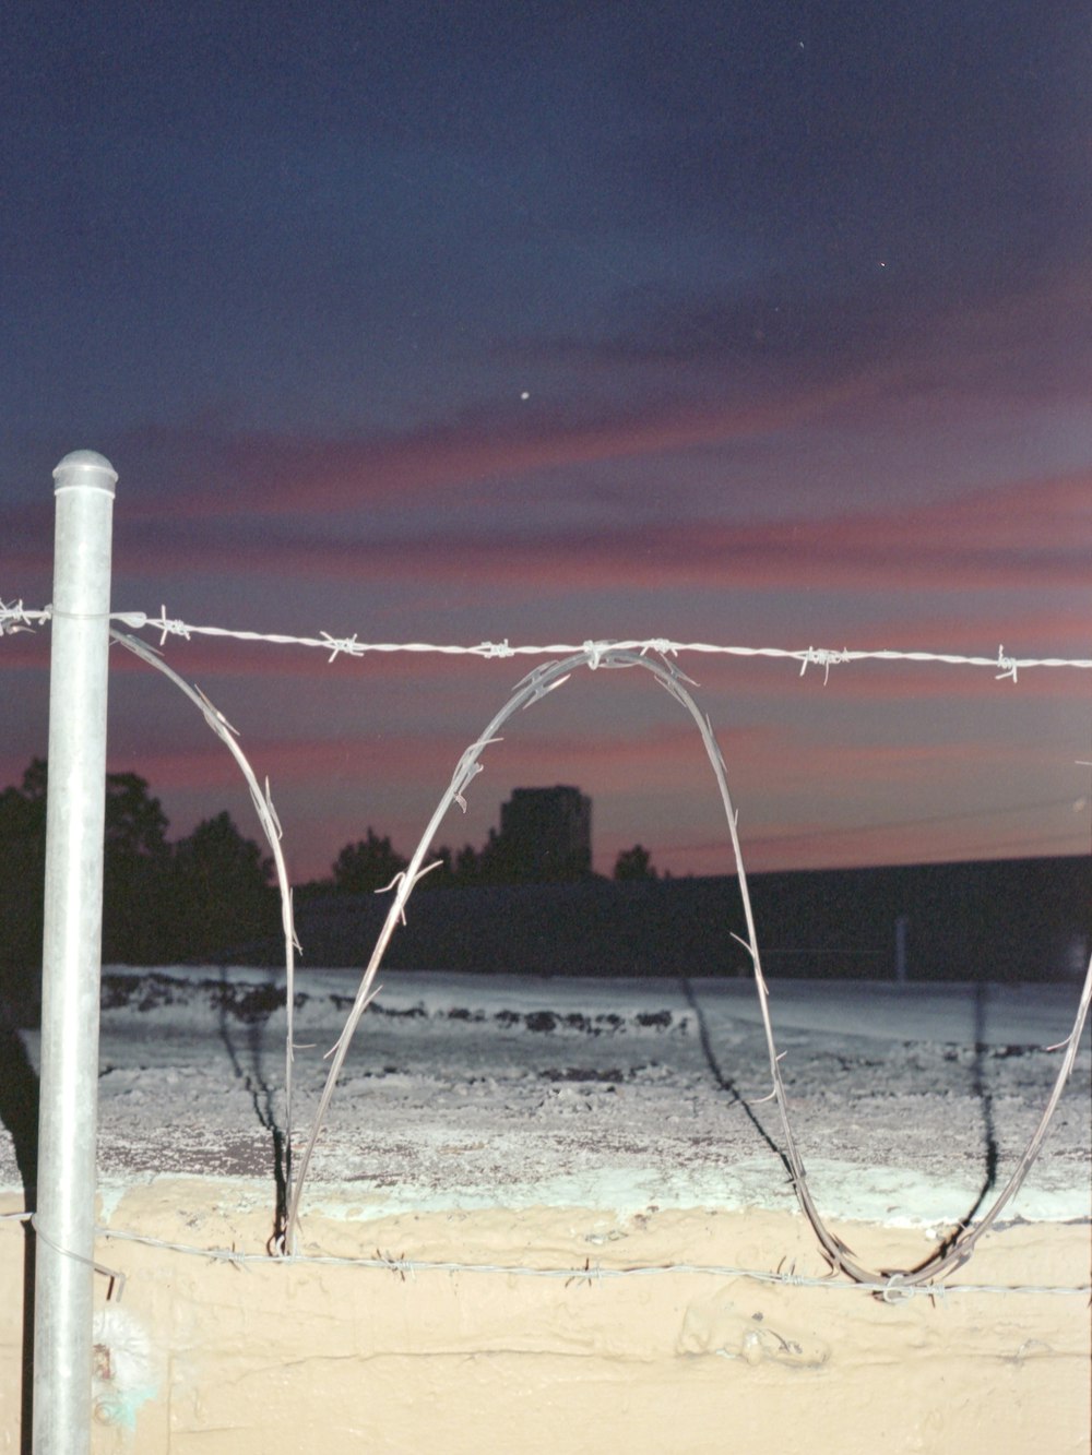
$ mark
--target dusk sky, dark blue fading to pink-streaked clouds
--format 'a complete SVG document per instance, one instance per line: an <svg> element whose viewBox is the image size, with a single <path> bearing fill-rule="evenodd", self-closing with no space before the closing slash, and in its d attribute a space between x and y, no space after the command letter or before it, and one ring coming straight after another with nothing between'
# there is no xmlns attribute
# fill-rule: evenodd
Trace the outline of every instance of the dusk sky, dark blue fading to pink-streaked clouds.
<svg viewBox="0 0 1092 1455"><path fill-rule="evenodd" d="M57 461L118 471L114 607L259 633L1092 658L1092 35L1008 0L12 6L0 598ZM151 645L157 633L144 633ZM0 640L0 786L48 627ZM536 661L169 639L294 879L409 854ZM1089 853L1092 674L683 653L751 872ZM109 767L173 837L237 768L112 658ZM651 674L505 726L515 786L729 873Z"/></svg>

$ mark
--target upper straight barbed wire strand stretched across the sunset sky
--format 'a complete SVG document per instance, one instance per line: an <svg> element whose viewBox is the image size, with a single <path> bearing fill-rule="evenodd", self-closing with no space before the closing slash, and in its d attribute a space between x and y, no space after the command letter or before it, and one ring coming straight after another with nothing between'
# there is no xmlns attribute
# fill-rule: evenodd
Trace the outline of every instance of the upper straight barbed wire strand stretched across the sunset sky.
<svg viewBox="0 0 1092 1455"><path fill-rule="evenodd" d="M22 601L10 604L0 601L0 636L33 630L35 626L45 626L55 614L52 607L31 610L23 607ZM542 645L513 645L505 637L501 642L478 642L472 646L437 642L363 642L355 631L351 636L333 636L329 631L319 631L317 636L291 636L274 631L246 631L234 627L198 626L182 621L178 617L169 617L166 605L160 608L157 617L149 615L144 611L112 611L109 620L118 626L128 627L131 631L159 631L160 646L172 636L182 637L183 640L191 640L195 636L226 637L234 642L268 642L274 646L317 647L329 653L331 662L339 656L363 658L397 652L432 653L438 656L478 656L486 661L513 656L571 656L574 652L588 652L591 653L588 666L594 671L600 665L600 659L609 652L638 652L641 655L655 652L664 658L692 652L706 656L772 658L799 662L801 677L804 677L810 666L821 666L824 682L830 678L831 666L866 661L933 662L945 666L993 668L999 681L1008 679L1012 682L1019 679L1019 672L1029 671L1031 668L1077 668L1092 671L1092 658L1016 658L1006 653L1003 646L997 647L994 656L965 656L955 652L900 652L894 649L725 646L713 642L676 642L670 637L585 640L579 643L552 642Z"/></svg>

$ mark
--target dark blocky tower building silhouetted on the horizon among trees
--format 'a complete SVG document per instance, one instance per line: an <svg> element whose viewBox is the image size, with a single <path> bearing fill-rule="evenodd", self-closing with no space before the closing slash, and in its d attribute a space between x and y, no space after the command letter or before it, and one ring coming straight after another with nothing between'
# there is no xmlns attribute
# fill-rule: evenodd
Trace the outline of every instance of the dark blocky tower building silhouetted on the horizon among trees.
<svg viewBox="0 0 1092 1455"><path fill-rule="evenodd" d="M584 879L591 873L591 799L579 789L513 789L494 841L507 873L523 882Z"/></svg>

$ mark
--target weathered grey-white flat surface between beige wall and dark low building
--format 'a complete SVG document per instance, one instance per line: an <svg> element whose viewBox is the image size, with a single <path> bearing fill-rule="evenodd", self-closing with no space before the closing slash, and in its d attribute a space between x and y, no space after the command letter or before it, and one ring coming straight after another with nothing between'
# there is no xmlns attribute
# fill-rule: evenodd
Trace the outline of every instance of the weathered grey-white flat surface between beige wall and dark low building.
<svg viewBox="0 0 1092 1455"><path fill-rule="evenodd" d="M298 1151L355 976L297 984ZM108 968L103 1196L157 1174L274 1184L288 1123L275 976ZM821 1211L948 1228L1008 1179L1050 1094L1077 986L772 984L794 1126ZM36 1064L36 1036L23 1032ZM1008 1221L1089 1218L1089 1055ZM443 1206L791 1211L745 981L396 970L357 1032L303 1208L351 1187L371 1215ZM0 1131L0 1189L20 1189Z"/></svg>

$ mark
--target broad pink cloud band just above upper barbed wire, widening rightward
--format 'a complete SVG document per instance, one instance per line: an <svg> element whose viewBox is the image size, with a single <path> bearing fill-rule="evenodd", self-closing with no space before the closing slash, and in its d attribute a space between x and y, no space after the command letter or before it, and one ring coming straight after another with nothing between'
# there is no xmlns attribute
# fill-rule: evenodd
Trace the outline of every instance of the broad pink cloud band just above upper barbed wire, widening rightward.
<svg viewBox="0 0 1092 1455"><path fill-rule="evenodd" d="M827 519L665 519L588 530L448 530L405 540L307 540L252 544L221 531L128 530L118 570L134 578L192 572L278 573L285 579L397 581L421 586L488 582L489 592L533 583L539 597L680 585L718 589L1013 589L1086 588L1092 480L1031 480L948 503L858 511Z"/></svg>

